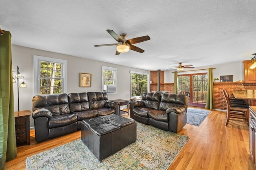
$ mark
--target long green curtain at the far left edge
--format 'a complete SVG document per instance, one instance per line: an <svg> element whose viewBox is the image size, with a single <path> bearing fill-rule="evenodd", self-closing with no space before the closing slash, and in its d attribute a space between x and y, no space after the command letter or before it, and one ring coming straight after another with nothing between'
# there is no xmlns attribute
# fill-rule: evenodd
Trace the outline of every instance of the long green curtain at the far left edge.
<svg viewBox="0 0 256 170"><path fill-rule="evenodd" d="M3 30L4 31L4 30ZM17 157L12 85L11 33L0 35L0 169Z"/></svg>

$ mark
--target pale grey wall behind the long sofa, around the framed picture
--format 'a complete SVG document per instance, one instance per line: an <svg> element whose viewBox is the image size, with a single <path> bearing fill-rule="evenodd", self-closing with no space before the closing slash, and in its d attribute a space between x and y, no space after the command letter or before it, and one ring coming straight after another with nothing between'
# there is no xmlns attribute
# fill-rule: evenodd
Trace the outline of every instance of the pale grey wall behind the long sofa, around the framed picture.
<svg viewBox="0 0 256 170"><path fill-rule="evenodd" d="M130 99L130 71L144 72L150 74L148 70L140 70L111 63L104 63L74 57L70 55L63 55L49 51L42 51L38 49L31 49L12 45L12 70L17 71L17 66L20 67L20 73L24 76L24 82L27 88L19 89L20 110L32 111L32 98L34 96L34 80L33 80L33 55L51 57L56 59L64 59L68 61L68 87L67 93L79 92L100 92L101 91L101 66L110 66L117 68L117 94L109 94L109 100L114 99ZM85 54L86 57L86 54ZM102 56L103 57L103 56ZM92 74L92 87L79 87L80 72ZM13 72L15 76L16 72ZM19 81L19 84L22 80ZM18 94L17 82L14 86L14 110L18 111ZM34 119L30 116L30 127L34 127Z"/></svg>

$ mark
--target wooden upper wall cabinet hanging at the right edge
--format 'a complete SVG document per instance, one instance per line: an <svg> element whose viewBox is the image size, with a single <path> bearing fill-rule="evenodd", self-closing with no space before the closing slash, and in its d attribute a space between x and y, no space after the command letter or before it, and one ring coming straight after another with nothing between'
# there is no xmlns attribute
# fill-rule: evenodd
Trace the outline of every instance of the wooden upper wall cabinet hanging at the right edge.
<svg viewBox="0 0 256 170"><path fill-rule="evenodd" d="M251 60L243 61L244 63L244 82L245 83L256 83L256 68L250 69L252 65Z"/></svg>

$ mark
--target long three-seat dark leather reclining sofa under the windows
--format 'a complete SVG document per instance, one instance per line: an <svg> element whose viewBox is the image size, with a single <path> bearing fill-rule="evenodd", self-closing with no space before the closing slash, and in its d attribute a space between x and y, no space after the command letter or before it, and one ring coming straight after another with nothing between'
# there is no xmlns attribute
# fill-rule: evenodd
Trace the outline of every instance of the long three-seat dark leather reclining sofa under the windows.
<svg viewBox="0 0 256 170"><path fill-rule="evenodd" d="M80 130L83 119L119 115L119 103L106 92L38 95L32 104L36 142Z"/></svg>

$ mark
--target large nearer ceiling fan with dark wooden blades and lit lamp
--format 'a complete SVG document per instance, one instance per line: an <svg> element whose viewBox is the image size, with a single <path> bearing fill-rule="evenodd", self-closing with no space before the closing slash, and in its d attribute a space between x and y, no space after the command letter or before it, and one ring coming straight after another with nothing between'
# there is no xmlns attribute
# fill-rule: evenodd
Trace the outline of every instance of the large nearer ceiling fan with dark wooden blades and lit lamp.
<svg viewBox="0 0 256 170"><path fill-rule="evenodd" d="M148 35L143 37L136 37L132 39L126 40L127 34L121 33L118 35L111 29L107 29L108 33L118 42L116 44L102 44L102 45L94 45L94 47L103 47L103 46L110 46L110 45L116 45L116 55L119 55L120 53L126 53L130 50L137 51L139 53L143 53L144 50L140 49L139 47L136 47L132 44L141 43L143 41L150 40L150 37Z"/></svg>

